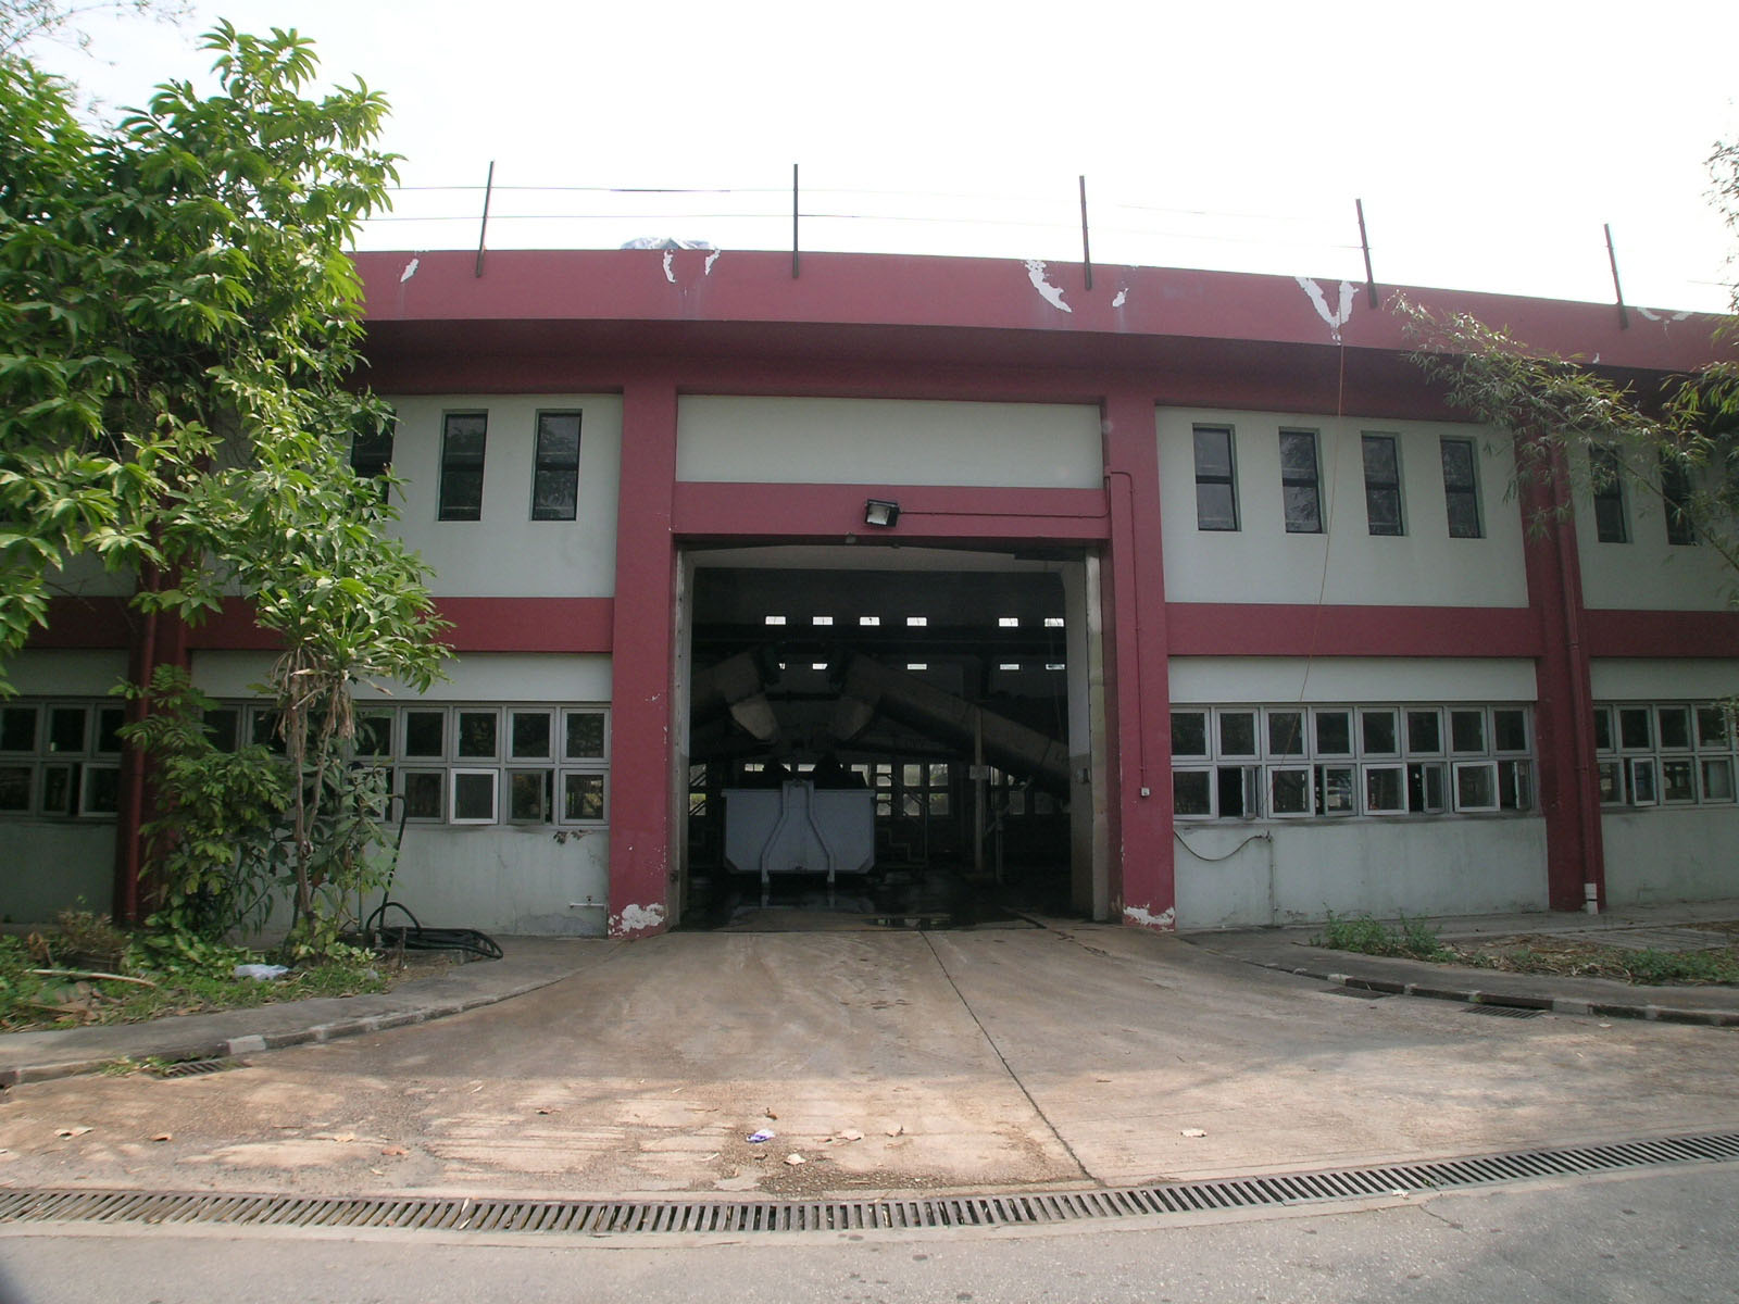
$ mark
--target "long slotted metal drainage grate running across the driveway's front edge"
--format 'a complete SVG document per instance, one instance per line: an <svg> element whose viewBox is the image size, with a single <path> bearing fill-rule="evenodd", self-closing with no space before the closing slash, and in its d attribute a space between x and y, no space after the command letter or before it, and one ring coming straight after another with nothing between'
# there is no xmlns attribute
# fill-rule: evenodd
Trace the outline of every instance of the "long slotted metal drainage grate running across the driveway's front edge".
<svg viewBox="0 0 1739 1304"><path fill-rule="evenodd" d="M1280 1208L1445 1191L1539 1177L1675 1163L1739 1161L1739 1132L1576 1149L1520 1151L1436 1163L1160 1182L1104 1191L878 1200L623 1201L174 1194L148 1191L0 1191L5 1222L223 1224L243 1227L393 1227L407 1231L784 1233L922 1227L1019 1227L1082 1219L1153 1217L1223 1208Z"/></svg>

